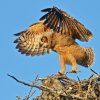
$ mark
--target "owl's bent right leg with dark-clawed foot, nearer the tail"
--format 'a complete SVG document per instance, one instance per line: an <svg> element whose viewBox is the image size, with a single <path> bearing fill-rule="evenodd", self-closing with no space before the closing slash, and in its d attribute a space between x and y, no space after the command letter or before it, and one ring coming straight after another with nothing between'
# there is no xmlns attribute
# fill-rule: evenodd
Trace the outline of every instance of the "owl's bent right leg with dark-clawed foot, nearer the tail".
<svg viewBox="0 0 100 100"><path fill-rule="evenodd" d="M79 70L77 70L77 62L76 62L76 59L75 57L73 57L71 54L67 55L68 58L69 58L69 61L71 62L72 64L72 70L69 71L69 73L77 73L77 72L80 72Z"/></svg>

